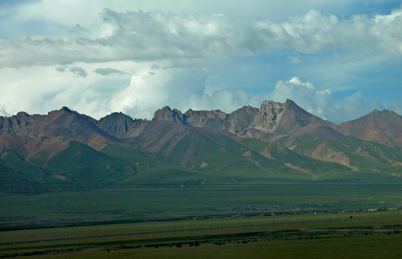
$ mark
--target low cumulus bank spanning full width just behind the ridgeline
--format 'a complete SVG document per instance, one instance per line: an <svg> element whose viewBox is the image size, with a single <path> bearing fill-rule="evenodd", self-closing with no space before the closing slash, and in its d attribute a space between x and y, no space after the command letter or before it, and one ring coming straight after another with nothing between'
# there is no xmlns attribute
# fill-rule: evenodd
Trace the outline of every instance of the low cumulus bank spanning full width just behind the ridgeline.
<svg viewBox="0 0 402 259"><path fill-rule="evenodd" d="M227 88L205 92L208 71L203 68L167 68L155 63L110 63L110 66L132 67L129 75L108 76L90 73L86 77L71 76L69 68L60 73L56 66L7 68L0 70L0 115L18 111L47 113L49 110L68 106L80 113L100 118L113 111L122 111L134 118L153 117L154 111L169 105L186 111L220 109L231 112L244 105L259 107L264 99L253 96L245 89ZM100 64L85 65L82 69L93 71ZM119 69L118 69L119 70ZM25 76L22 78L21 75ZM45 74L40 80L32 76ZM7 75L7 77L5 76ZM10 91L13 89L13 91ZM16 95L15 92L19 94ZM392 101L384 105L377 100L365 101L362 92L348 96L339 107L334 107L329 90L317 91L313 83L293 77L278 81L271 99L283 102L292 99L309 112L336 123L355 119L373 109L391 109L402 113L402 103Z"/></svg>

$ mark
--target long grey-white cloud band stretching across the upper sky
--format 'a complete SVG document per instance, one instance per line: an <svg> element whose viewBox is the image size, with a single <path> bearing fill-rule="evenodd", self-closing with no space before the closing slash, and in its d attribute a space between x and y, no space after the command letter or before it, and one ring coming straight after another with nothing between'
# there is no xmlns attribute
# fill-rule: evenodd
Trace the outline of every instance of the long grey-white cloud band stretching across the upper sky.
<svg viewBox="0 0 402 259"><path fill-rule="evenodd" d="M402 55L402 8L389 15L339 19L310 11L288 22L243 22L225 15L118 13L105 9L85 36L0 39L0 67L118 60L207 59L247 56L272 49ZM297 60L295 60L297 61Z"/></svg>

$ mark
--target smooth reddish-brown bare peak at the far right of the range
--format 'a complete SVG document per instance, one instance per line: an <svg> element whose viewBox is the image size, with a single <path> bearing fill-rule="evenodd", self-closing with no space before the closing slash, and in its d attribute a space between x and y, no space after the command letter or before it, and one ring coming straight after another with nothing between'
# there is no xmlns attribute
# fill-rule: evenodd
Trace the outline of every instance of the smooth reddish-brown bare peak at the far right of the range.
<svg viewBox="0 0 402 259"><path fill-rule="evenodd" d="M389 147L402 147L402 116L389 110L374 110L335 127L339 133Z"/></svg>

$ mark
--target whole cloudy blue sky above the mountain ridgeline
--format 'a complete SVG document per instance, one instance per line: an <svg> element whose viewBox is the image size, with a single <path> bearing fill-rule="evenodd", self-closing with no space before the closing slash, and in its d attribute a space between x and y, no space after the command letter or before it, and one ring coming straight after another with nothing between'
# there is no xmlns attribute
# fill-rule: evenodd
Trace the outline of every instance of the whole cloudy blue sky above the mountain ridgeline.
<svg viewBox="0 0 402 259"><path fill-rule="evenodd" d="M249 2L1 0L0 115L286 99L335 123L402 114L400 1Z"/></svg>

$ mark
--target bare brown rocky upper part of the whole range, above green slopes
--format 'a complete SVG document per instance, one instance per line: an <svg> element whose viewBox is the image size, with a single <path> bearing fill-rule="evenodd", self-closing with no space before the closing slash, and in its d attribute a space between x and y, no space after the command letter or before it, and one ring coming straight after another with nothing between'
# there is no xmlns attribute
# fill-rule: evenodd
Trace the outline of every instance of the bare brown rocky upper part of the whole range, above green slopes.
<svg viewBox="0 0 402 259"><path fill-rule="evenodd" d="M46 161L67 150L71 141L78 141L96 151L114 146L135 147L136 152L144 152L148 158L185 167L189 161L194 161L194 157L200 160L200 164L207 161L204 161L204 157L209 156L207 150L226 153L227 143L231 142L233 147L253 138L277 142L283 149L281 154L294 150L298 154L352 169L355 168L353 156L356 155L371 162L398 166L399 158L385 154L382 147L374 145L371 148L371 144L363 147L353 138L401 147L401 129L402 117L391 111L374 111L337 125L307 112L291 100L284 103L264 101L260 108L244 106L229 114L220 110L191 109L182 113L165 106L155 111L152 120L133 119L121 112L96 120L63 107L47 115L19 112L11 117L0 116L0 156L3 158L4 152L11 150L27 161L33 159L46 165ZM249 151L242 151L246 150L244 146L235 150L241 150L241 159L258 165L249 157ZM380 150L381 154L376 157L375 153L370 153L372 150ZM265 154L260 150L256 152ZM79 151L71 154L79 155ZM229 155L226 158L230 160ZM133 161L142 163L136 159ZM275 161L279 163L280 159ZM277 166L283 166L283 163ZM299 166L291 161L286 163L285 166L291 169ZM292 166L289 167L289 163Z"/></svg>

